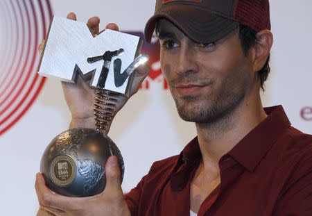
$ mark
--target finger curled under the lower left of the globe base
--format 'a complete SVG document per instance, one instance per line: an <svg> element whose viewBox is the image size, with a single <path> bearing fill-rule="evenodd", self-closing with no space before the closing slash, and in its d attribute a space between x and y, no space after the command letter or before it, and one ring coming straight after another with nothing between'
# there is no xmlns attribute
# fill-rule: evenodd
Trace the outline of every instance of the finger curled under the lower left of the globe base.
<svg viewBox="0 0 312 216"><path fill-rule="evenodd" d="M44 177L42 174L37 174L35 189L40 206L44 208L55 208L58 210L73 210L80 206L81 198L64 197L60 194L53 194L49 188L46 187Z"/></svg>

